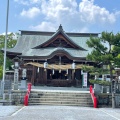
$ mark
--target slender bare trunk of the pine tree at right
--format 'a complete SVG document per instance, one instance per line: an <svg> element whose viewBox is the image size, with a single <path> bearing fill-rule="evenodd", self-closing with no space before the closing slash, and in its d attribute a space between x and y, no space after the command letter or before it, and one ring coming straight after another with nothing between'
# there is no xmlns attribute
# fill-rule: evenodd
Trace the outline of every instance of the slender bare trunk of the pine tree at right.
<svg viewBox="0 0 120 120"><path fill-rule="evenodd" d="M112 108L115 108L115 88L113 82L112 65L110 65L110 80L111 80L111 93L112 93Z"/></svg>

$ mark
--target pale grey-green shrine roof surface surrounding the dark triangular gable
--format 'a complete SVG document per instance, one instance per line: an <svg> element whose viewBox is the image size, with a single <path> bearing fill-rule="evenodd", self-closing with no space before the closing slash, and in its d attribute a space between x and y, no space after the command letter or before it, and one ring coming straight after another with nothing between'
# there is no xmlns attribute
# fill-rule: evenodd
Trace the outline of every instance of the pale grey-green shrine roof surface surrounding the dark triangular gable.
<svg viewBox="0 0 120 120"><path fill-rule="evenodd" d="M21 36L18 38L18 42L16 46L12 49L8 49L8 52L22 53L23 56L48 56L58 50L58 48L41 48L41 49L32 49L36 46L44 44L48 40L51 40L53 36L59 34L59 32L63 32L63 34L75 45L80 48L84 48L85 50L77 50L72 48L63 48L64 51L69 53L73 57L86 57L88 53L91 52L91 48L86 45L86 41L90 38L90 35L97 37L98 34L90 34L90 33L72 33L66 34L62 28L59 28L56 33L52 35L52 32L31 32L29 31L21 31ZM31 33L31 34L28 34ZM38 34L39 33L39 34ZM46 35L47 34L47 35Z"/></svg>

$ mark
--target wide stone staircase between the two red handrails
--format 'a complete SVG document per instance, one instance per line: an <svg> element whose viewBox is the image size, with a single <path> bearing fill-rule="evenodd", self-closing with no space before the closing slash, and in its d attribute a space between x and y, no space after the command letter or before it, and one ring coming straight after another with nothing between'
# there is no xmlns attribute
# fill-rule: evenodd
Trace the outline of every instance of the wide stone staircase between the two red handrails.
<svg viewBox="0 0 120 120"><path fill-rule="evenodd" d="M93 107L91 95L80 92L31 91L29 105L63 105Z"/></svg>

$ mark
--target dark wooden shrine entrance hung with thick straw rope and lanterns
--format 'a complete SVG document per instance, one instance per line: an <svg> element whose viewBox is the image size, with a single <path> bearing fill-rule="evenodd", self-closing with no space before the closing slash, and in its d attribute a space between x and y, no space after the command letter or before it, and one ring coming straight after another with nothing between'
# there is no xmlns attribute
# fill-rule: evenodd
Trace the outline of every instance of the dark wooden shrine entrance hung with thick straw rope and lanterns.
<svg viewBox="0 0 120 120"><path fill-rule="evenodd" d="M33 66L31 82L34 85L58 87L82 86L81 64L65 55L55 55L44 63L29 62Z"/></svg>

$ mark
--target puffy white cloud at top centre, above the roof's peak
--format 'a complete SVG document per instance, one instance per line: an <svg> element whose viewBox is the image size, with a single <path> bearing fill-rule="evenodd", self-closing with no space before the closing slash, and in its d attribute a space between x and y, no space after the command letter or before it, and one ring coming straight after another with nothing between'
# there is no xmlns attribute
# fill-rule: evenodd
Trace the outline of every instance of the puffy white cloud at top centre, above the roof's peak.
<svg viewBox="0 0 120 120"><path fill-rule="evenodd" d="M43 1L41 10L46 19L61 21L76 13L77 3L75 0L50 0Z"/></svg>

